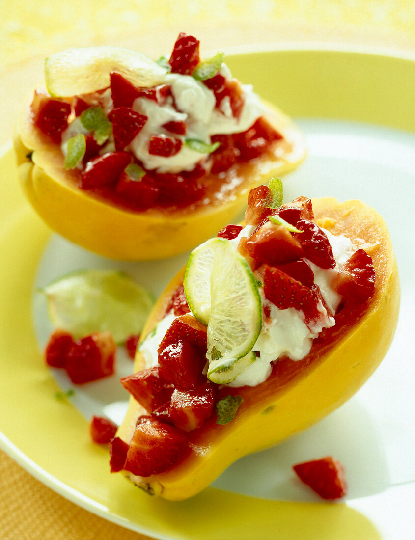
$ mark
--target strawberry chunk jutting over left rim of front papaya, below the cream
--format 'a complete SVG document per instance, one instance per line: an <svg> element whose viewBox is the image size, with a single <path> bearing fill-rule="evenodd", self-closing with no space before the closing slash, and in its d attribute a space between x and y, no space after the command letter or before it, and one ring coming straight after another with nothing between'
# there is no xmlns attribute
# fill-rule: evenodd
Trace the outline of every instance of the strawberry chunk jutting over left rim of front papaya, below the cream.
<svg viewBox="0 0 415 540"><path fill-rule="evenodd" d="M137 373L122 377L120 381L123 387L149 413L169 402L173 392L171 384L166 383L158 367L142 369Z"/></svg>

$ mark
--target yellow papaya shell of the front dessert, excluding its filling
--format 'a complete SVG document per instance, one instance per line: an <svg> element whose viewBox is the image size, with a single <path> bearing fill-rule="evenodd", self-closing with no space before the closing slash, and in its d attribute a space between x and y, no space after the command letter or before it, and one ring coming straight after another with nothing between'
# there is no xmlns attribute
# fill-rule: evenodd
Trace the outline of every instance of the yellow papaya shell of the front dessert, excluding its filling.
<svg viewBox="0 0 415 540"><path fill-rule="evenodd" d="M363 305L344 308L336 326L324 330L303 360L276 362L269 379L257 387L225 388L225 394L244 401L235 420L219 426L216 415L191 431L190 453L171 470L142 478L123 471L150 494L179 501L206 488L231 463L246 454L275 446L323 419L349 399L378 367L396 329L400 286L389 232L380 215L357 200L313 200L320 226L352 239L373 259L376 284L373 297ZM169 299L183 280L184 270L160 296L142 333L142 339L163 318ZM137 353L135 371L143 368ZM137 417L145 410L131 397L117 435L129 442Z"/></svg>

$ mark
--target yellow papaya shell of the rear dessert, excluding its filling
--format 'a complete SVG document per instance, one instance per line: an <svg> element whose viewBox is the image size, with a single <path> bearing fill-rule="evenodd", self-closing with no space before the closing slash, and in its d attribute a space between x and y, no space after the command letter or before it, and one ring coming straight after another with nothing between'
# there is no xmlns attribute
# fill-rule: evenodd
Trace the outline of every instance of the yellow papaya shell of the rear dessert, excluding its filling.
<svg viewBox="0 0 415 540"><path fill-rule="evenodd" d="M133 212L77 187L78 173L64 169L59 146L36 127L28 102L14 137L23 191L52 230L99 255L135 261L172 257L196 247L235 218L251 188L291 171L304 159L302 134L276 107L268 104L267 108L267 119L283 140L263 157L237 165L223 184L226 189L220 200Z"/></svg>

